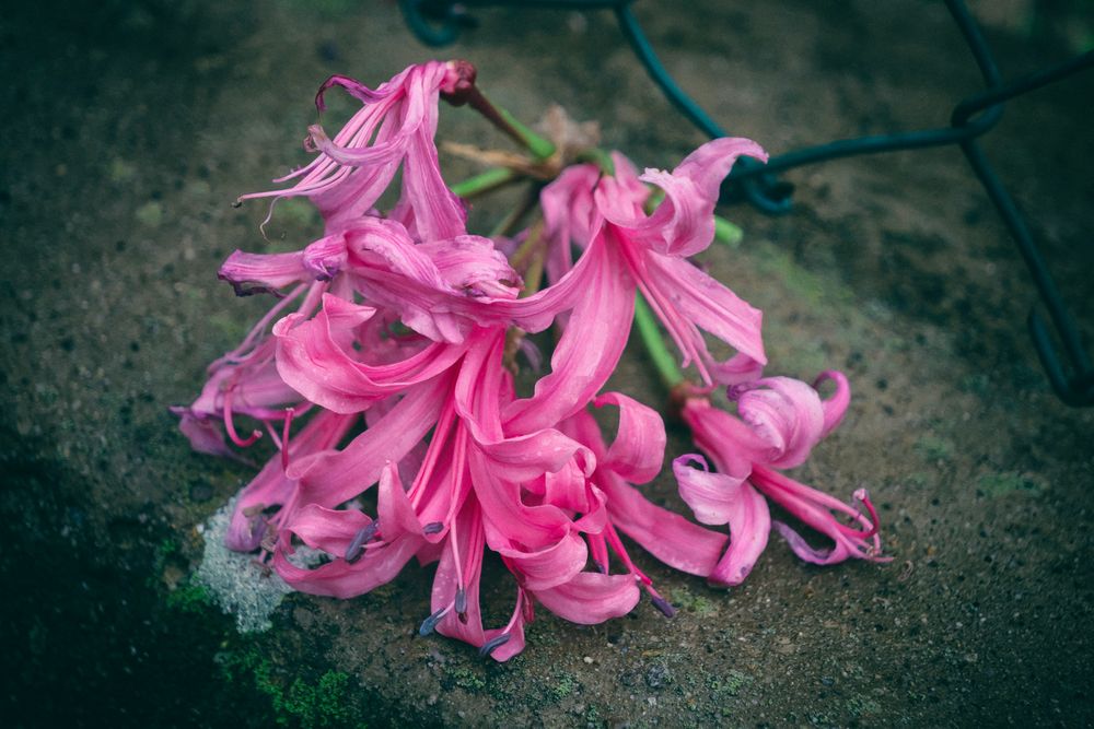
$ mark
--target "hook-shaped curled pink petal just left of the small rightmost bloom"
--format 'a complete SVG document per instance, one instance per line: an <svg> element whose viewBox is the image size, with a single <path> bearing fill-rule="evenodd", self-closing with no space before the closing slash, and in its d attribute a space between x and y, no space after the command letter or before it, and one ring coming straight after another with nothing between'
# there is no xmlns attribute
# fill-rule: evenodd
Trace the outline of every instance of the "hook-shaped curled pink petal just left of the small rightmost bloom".
<svg viewBox="0 0 1094 729"><path fill-rule="evenodd" d="M665 458L665 423L661 415L619 392L605 392L593 404L619 408L619 432L602 466L630 483L647 483L656 478Z"/></svg>

